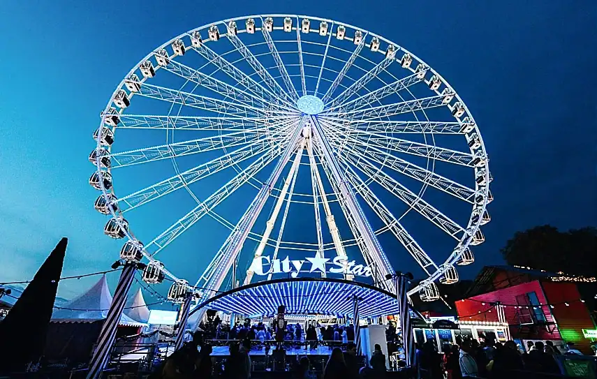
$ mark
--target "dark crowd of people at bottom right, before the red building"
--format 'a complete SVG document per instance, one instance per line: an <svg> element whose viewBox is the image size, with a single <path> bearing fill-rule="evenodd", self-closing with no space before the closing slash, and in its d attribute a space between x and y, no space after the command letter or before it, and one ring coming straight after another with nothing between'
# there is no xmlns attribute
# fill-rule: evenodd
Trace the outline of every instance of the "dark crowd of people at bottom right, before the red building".
<svg viewBox="0 0 597 379"><path fill-rule="evenodd" d="M560 354L580 354L568 345L562 353L552 341L529 341L522 352L514 341L500 343L492 335L482 343L476 339L459 339L457 345L445 344L443 354L435 343L427 341L416 345L416 362L422 379L506 378L508 372L561 373L556 359Z"/></svg>

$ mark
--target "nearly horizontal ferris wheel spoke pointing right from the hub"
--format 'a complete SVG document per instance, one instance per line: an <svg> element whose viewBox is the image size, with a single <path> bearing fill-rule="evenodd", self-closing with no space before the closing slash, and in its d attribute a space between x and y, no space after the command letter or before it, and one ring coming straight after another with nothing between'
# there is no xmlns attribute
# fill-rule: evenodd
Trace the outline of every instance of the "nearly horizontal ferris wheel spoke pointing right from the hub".
<svg viewBox="0 0 597 379"><path fill-rule="evenodd" d="M332 121L351 129L351 133L360 131L374 133L431 133L431 134L466 134L464 127L467 124L457 121L384 121L361 119L350 121L338 117L321 117L324 121Z"/></svg>

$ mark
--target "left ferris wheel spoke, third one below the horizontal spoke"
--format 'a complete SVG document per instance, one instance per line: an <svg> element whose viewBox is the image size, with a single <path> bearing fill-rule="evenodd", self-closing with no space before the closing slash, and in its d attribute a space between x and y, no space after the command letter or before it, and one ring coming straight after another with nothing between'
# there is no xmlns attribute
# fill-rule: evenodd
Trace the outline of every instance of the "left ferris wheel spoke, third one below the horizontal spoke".
<svg viewBox="0 0 597 379"><path fill-rule="evenodd" d="M154 257L163 248L168 246L170 242L174 241L179 235L182 235L182 233L191 228L191 226L203 216L212 211L214 207L223 202L223 200L226 200L228 196L232 195L232 193L249 181L255 174L270 164L277 154L277 149L267 150L246 169L239 172L233 179L219 188L218 191L209 195L207 199L200 202L195 208L189 211L189 213L170 226L170 228L162 232L161 235L156 237L153 241L149 242L149 244L145 246L145 251Z"/></svg>

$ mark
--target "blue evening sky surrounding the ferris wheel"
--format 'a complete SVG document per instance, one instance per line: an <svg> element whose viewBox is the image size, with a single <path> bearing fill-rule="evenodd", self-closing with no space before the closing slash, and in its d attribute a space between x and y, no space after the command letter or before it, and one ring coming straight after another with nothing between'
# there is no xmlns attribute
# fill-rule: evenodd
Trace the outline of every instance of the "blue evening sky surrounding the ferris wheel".
<svg viewBox="0 0 597 379"><path fill-rule="evenodd" d="M63 236L65 275L109 269L121 241L103 235L107 219L94 211L97 193L87 184L99 111L128 70L165 40L258 13L327 17L381 34L457 90L480 126L495 178L487 241L474 248L476 264L463 277L500 264L499 249L518 230L597 225L594 1L5 1L0 282L31 278ZM153 220L135 225L162 225L180 213L155 209ZM224 232L214 221L190 230L171 246L168 267L194 281L223 241L212 236ZM399 256L391 259L401 265ZM63 282L59 295L73 297L95 280ZM116 280L109 276L112 288Z"/></svg>

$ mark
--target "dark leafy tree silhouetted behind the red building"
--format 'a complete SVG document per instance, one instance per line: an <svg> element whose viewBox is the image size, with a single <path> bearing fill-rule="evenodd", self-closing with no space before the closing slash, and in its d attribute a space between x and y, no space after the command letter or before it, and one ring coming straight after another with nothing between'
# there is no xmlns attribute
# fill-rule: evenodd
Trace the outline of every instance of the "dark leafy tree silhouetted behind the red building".
<svg viewBox="0 0 597 379"><path fill-rule="evenodd" d="M551 225L516 232L501 249L508 265L594 276L597 228L560 232Z"/></svg>

